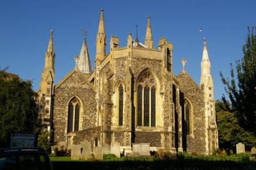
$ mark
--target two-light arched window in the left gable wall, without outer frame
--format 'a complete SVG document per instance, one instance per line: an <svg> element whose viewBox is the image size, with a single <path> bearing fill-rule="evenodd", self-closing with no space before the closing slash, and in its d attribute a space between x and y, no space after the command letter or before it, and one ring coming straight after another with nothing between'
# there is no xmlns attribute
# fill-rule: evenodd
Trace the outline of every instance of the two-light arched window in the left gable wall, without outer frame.
<svg viewBox="0 0 256 170"><path fill-rule="evenodd" d="M79 130L80 118L80 102L74 97L68 104L68 127L67 132L74 132Z"/></svg>

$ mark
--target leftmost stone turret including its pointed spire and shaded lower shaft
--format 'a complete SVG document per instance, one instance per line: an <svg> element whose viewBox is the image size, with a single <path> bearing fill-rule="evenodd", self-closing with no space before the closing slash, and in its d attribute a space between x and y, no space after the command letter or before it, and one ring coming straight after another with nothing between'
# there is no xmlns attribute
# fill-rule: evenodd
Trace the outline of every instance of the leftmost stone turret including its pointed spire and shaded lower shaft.
<svg viewBox="0 0 256 170"><path fill-rule="evenodd" d="M53 95L53 83L54 83L54 60L55 53L53 50L51 30L49 45L45 52L45 66L42 72L41 82L38 92L38 109L39 118L43 126L43 130L50 130L50 118L52 113L52 95Z"/></svg>

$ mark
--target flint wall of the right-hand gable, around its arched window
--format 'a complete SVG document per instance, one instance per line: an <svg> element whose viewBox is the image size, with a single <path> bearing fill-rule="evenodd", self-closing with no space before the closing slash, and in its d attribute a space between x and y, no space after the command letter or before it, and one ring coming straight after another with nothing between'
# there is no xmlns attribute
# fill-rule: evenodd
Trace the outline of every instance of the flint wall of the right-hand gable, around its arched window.
<svg viewBox="0 0 256 170"><path fill-rule="evenodd" d="M177 77L180 91L193 105L193 134L187 135L187 151L189 153L205 153L205 113L204 93L187 72L181 72Z"/></svg>

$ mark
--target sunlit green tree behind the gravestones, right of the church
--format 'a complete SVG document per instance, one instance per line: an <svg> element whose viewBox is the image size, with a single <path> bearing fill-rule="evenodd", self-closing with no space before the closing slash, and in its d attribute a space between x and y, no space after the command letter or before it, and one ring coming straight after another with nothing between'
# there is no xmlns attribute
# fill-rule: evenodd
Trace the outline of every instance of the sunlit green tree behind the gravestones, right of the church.
<svg viewBox="0 0 256 170"><path fill-rule="evenodd" d="M215 103L216 120L218 125L219 147L221 150L236 150L237 143L243 143L247 150L256 146L256 139L252 132L239 126L230 104L224 100Z"/></svg>

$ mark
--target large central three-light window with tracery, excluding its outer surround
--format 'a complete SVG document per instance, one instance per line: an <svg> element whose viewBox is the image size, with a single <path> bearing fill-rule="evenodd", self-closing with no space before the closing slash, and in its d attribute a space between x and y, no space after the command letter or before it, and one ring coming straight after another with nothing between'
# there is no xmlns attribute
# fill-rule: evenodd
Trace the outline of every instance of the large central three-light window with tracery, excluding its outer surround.
<svg viewBox="0 0 256 170"><path fill-rule="evenodd" d="M156 127L156 81L149 70L138 79L137 125Z"/></svg>

